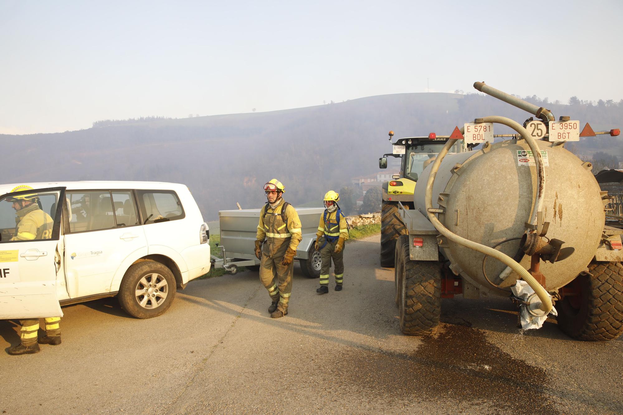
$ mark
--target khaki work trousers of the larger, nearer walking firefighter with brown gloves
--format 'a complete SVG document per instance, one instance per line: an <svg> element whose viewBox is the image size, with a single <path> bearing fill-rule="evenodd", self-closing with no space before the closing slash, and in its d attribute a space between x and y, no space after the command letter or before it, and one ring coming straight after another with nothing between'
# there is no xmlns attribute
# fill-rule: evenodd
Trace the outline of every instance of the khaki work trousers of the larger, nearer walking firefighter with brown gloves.
<svg viewBox="0 0 623 415"><path fill-rule="evenodd" d="M269 290L270 299L279 300L277 309L284 314L288 310L290 293L292 293L292 274L294 271L294 261L290 265L282 265L285 251L290 245L290 238L283 241L275 254L269 255L267 243L262 247L262 259L260 259L260 281Z"/></svg>

